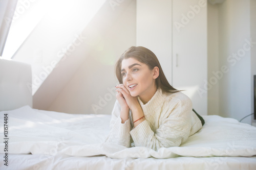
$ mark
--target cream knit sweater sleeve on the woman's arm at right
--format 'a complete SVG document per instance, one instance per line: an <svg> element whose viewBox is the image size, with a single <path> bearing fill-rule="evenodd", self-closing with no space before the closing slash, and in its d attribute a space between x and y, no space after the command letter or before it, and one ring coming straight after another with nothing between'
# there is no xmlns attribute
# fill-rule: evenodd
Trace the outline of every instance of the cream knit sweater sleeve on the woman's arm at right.
<svg viewBox="0 0 256 170"><path fill-rule="evenodd" d="M147 120L144 120L130 134L136 147L147 147L158 150L162 147L177 147L185 141L191 129L190 99L174 99L166 102L160 110L160 117L157 120L159 128L155 132L151 129ZM155 114L155 113L153 113Z"/></svg>

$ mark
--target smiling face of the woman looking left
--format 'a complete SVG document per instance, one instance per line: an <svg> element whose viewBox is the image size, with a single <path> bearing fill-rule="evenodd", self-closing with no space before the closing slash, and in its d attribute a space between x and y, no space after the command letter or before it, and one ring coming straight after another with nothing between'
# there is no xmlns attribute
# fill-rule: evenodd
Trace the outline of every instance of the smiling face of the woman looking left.
<svg viewBox="0 0 256 170"><path fill-rule="evenodd" d="M123 85L132 96L139 96L142 101L144 99L148 102L157 90L155 79L158 75L156 76L155 68L150 70L146 64L133 57L123 59L121 65Z"/></svg>

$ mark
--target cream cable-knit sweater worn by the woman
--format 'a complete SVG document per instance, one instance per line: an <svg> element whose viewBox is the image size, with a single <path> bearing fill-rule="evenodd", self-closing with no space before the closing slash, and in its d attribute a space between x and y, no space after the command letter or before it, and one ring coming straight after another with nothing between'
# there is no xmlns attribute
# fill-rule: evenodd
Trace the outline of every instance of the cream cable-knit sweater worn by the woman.
<svg viewBox="0 0 256 170"><path fill-rule="evenodd" d="M139 97L138 101L145 120L134 128L130 111L129 119L122 124L121 107L116 101L110 121L110 133L105 142L158 150L162 147L177 147L202 128L201 120L192 111L191 100L182 92L169 94L162 93L159 89L146 104Z"/></svg>

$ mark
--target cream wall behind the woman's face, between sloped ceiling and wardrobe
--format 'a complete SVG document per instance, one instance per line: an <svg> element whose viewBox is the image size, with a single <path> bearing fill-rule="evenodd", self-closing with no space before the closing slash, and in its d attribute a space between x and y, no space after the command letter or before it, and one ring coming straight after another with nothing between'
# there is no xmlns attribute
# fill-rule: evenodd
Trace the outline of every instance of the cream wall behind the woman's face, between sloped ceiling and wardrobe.
<svg viewBox="0 0 256 170"><path fill-rule="evenodd" d="M118 6L116 6L118 8ZM94 47L72 79L65 85L47 110L111 114L115 98L114 64L130 46L136 45L136 2L123 11L109 30L97 32ZM97 28L92 28L97 30Z"/></svg>

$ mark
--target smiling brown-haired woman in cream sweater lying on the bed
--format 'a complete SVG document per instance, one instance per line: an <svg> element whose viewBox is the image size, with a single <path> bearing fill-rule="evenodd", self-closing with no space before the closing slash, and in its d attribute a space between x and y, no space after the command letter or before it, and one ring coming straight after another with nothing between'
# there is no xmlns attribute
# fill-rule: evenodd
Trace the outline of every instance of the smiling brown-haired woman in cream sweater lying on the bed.
<svg viewBox="0 0 256 170"><path fill-rule="evenodd" d="M152 51L130 47L115 71L120 84L105 142L158 150L177 147L202 128L191 100L168 83Z"/></svg>

